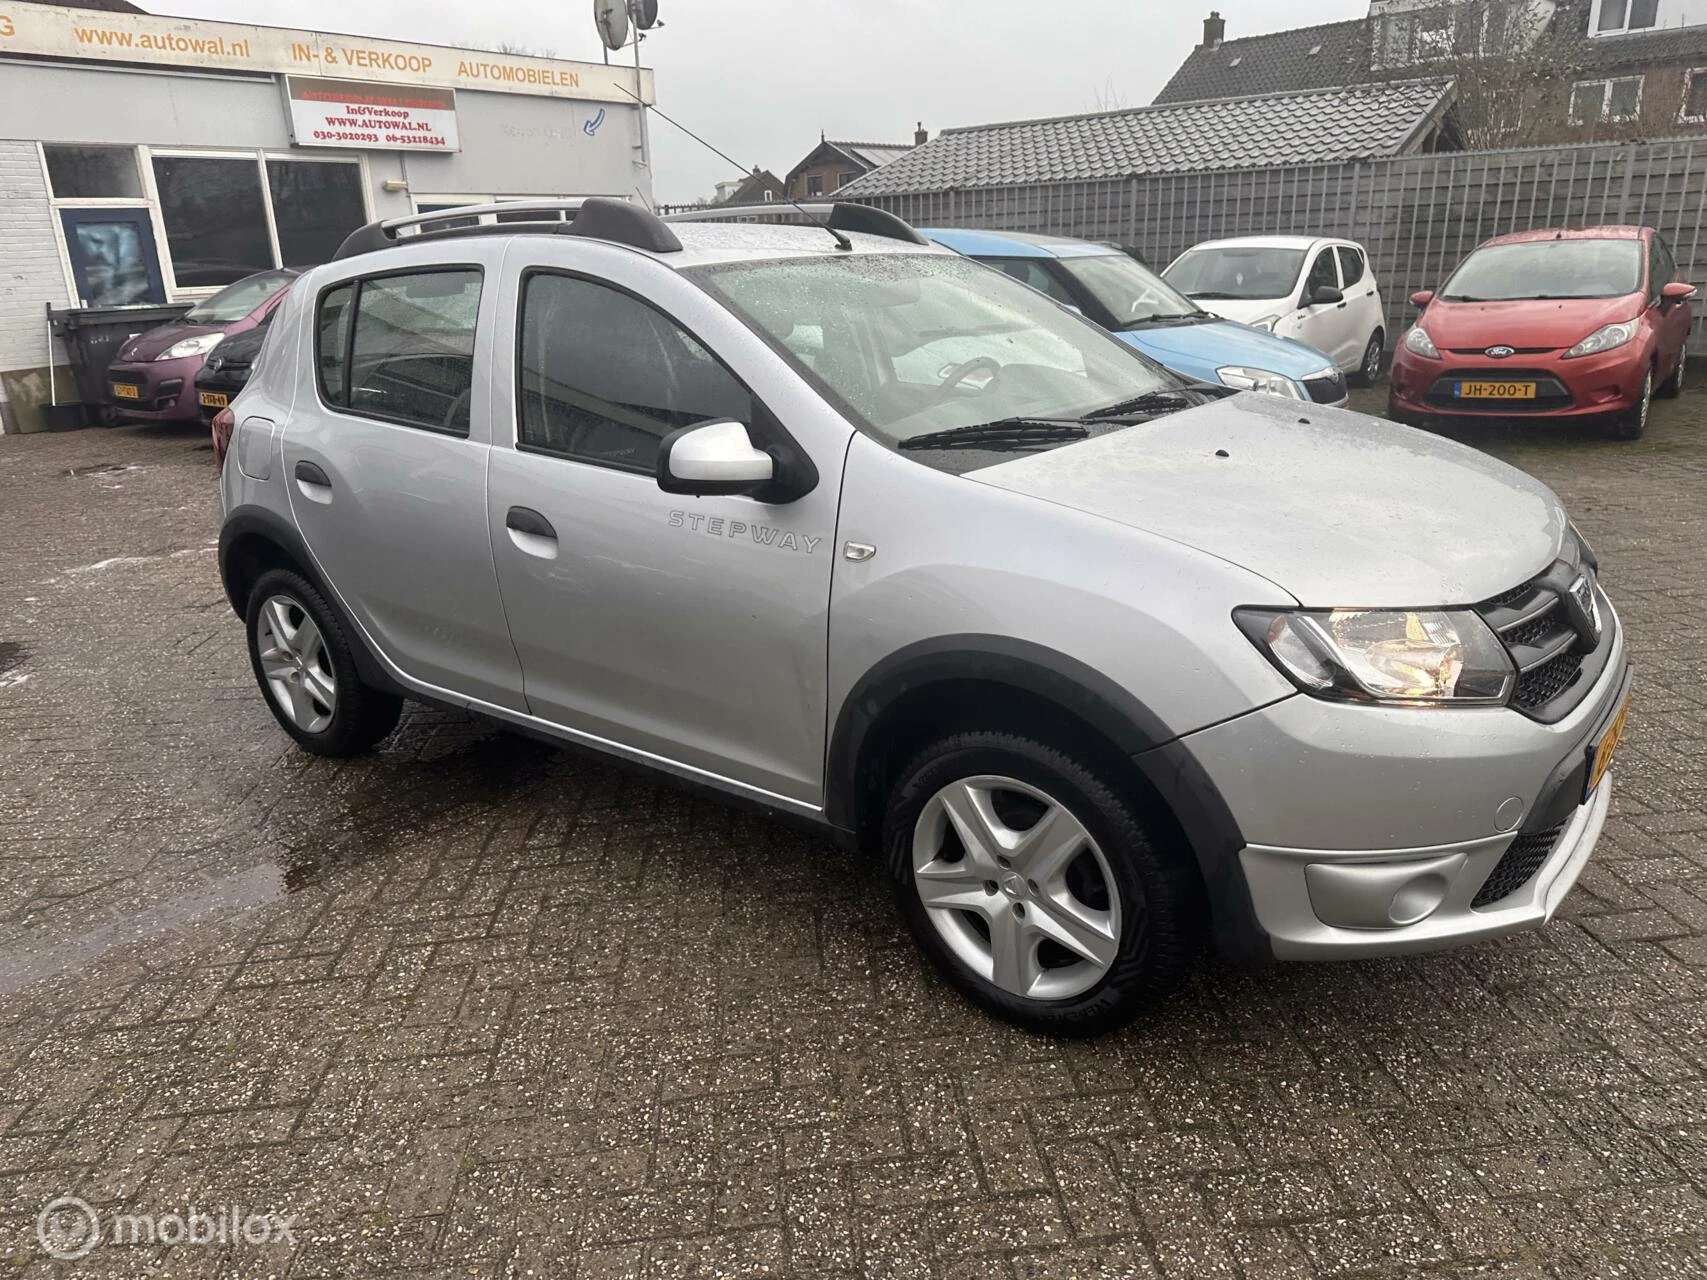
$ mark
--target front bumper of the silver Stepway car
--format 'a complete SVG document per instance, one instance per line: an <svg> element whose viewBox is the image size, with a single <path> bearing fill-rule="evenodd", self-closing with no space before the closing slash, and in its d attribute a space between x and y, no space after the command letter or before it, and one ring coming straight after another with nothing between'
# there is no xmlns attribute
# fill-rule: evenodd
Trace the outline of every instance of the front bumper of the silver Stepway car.
<svg viewBox="0 0 1707 1280"><path fill-rule="evenodd" d="M1605 824L1610 775L1582 795L1589 751L1628 698L1623 628L1599 599L1605 662L1553 722L1299 695L1173 744L1174 763L1188 756L1200 771L1197 794L1224 806L1219 829L1234 835L1219 865L1205 865L1221 947L1275 959L1408 954L1550 920ZM1193 843L1202 858L1205 841L1193 833Z"/></svg>

